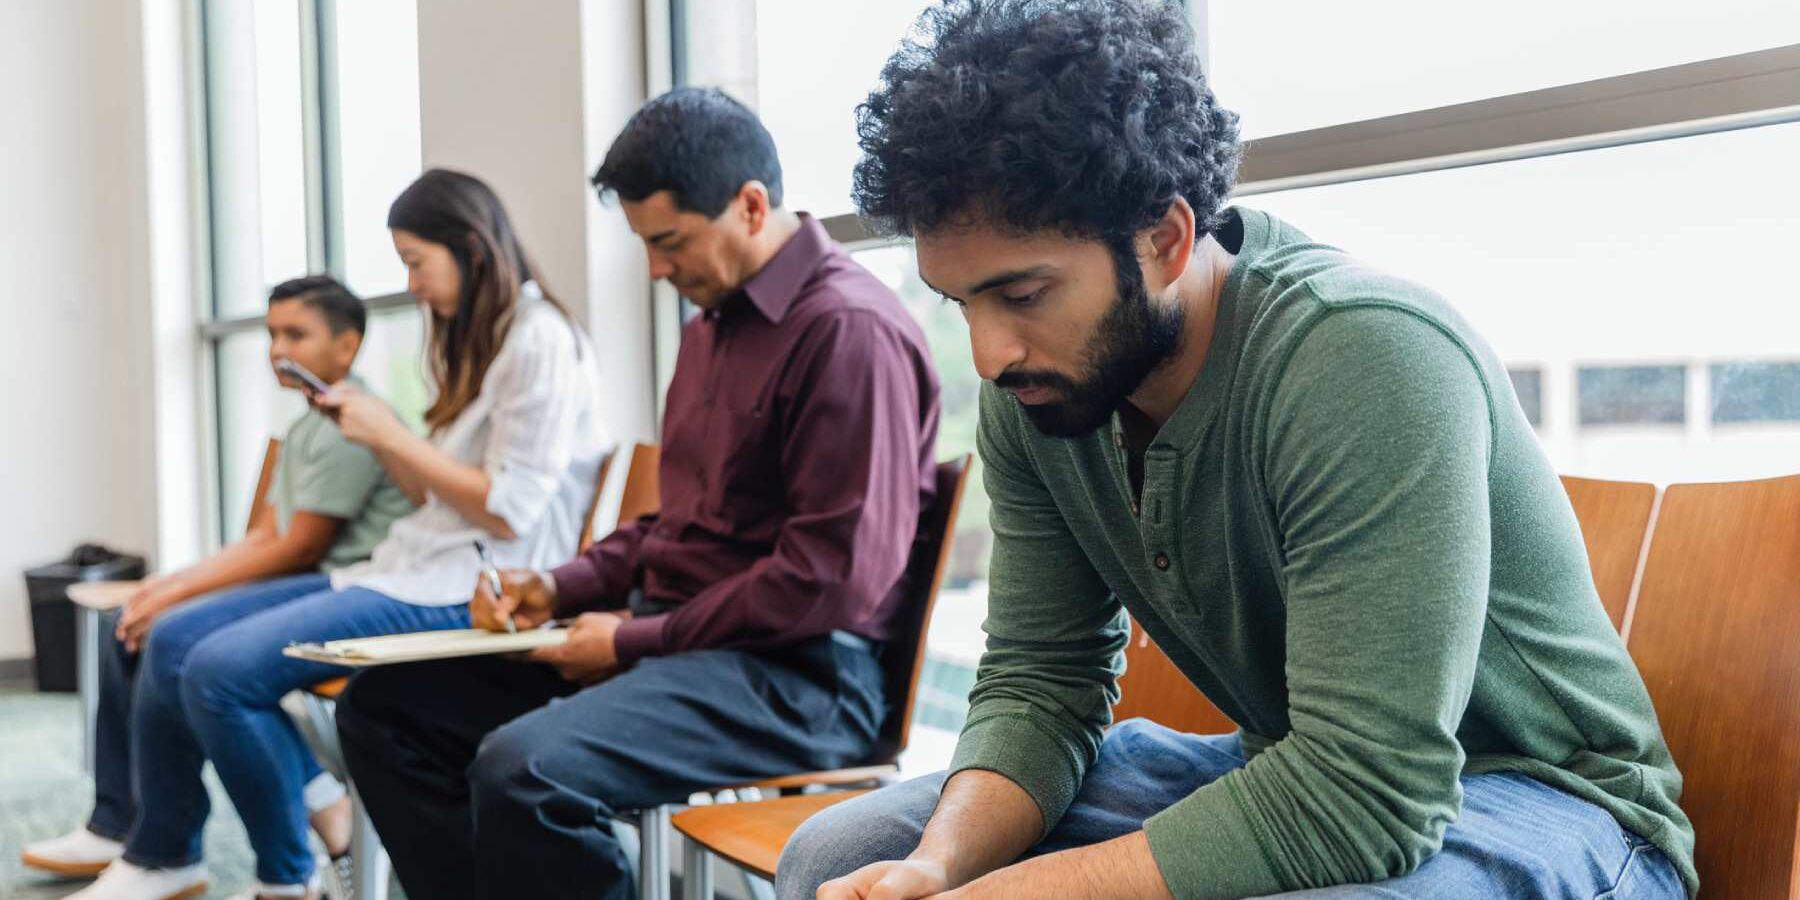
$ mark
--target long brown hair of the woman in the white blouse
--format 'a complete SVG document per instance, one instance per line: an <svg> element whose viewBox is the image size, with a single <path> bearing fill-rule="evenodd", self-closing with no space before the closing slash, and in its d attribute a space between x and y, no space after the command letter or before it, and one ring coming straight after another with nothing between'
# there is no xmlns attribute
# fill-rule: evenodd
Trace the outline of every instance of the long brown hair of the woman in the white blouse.
<svg viewBox="0 0 1800 900"><path fill-rule="evenodd" d="M536 281L544 299L574 328L536 265L513 234L513 221L493 189L481 178L450 169L428 169L387 207L387 227L409 230L443 245L463 274L463 297L454 317L432 311L427 328L427 360L437 396L425 410L436 434L455 421L481 394L488 365L499 356L518 311L518 288Z"/></svg>

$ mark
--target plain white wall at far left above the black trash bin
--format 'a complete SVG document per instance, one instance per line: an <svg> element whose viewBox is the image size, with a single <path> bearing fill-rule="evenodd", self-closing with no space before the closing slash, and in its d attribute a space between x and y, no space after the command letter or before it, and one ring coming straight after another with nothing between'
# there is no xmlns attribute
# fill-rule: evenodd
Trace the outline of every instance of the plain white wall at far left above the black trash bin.
<svg viewBox="0 0 1800 900"><path fill-rule="evenodd" d="M155 549L140 27L135 0L0 4L0 659L32 652L20 569Z"/></svg>

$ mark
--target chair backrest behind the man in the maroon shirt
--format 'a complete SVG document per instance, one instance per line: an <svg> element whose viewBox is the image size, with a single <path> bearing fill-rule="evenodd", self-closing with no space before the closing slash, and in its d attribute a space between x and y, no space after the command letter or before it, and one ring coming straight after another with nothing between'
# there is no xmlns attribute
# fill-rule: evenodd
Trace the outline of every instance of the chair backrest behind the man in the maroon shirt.
<svg viewBox="0 0 1800 900"><path fill-rule="evenodd" d="M887 693L887 718L875 738L869 765L886 765L900 758L913 736L913 711L918 704L918 679L925 671L925 635L931 630L931 612L938 607L938 589L950 562L950 544L956 542L956 513L963 506L963 488L968 484L970 455L938 463L938 493L918 517L913 554L905 565L905 596L895 610L893 630L882 648L882 682Z"/></svg>

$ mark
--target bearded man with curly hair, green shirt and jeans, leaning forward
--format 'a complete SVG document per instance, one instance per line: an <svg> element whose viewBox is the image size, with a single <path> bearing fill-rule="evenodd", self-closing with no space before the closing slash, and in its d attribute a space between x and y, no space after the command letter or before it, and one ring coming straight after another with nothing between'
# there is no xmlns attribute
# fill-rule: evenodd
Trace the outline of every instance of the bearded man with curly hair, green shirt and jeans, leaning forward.
<svg viewBox="0 0 1800 900"><path fill-rule="evenodd" d="M1485 342L1226 207L1179 5L918 32L857 200L990 382L988 652L950 772L810 821L781 896L1692 895L1681 776ZM1103 731L1127 612L1240 733Z"/></svg>

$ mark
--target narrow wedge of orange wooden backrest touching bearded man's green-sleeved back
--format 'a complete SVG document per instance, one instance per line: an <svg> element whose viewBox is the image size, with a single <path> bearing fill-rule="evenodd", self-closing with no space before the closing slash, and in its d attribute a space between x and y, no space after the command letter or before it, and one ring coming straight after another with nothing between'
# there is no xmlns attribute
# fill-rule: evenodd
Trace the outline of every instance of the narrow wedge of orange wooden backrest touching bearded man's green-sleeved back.
<svg viewBox="0 0 1800 900"><path fill-rule="evenodd" d="M1656 508L1656 486L1562 475L1562 490L1568 491L1570 506L1580 522L1593 587L1600 592L1600 603L1606 605L1613 628L1624 632L1625 612L1631 607L1631 581L1638 574L1643 540L1651 531L1651 511Z"/></svg>

